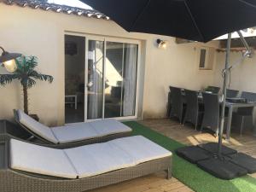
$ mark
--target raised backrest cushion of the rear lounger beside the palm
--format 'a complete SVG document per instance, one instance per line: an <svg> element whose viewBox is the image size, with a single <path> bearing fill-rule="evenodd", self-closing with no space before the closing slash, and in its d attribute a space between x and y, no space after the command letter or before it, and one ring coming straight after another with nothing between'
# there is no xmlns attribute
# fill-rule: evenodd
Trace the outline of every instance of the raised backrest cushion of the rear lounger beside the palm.
<svg viewBox="0 0 256 192"><path fill-rule="evenodd" d="M59 141L55 138L53 132L50 130L48 126L45 126L35 119L32 119L26 113L18 110L19 120L22 125L25 125L28 129L36 133L38 136L48 140L51 143L59 143Z"/></svg>

